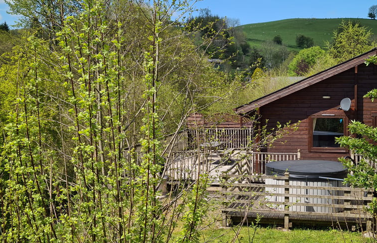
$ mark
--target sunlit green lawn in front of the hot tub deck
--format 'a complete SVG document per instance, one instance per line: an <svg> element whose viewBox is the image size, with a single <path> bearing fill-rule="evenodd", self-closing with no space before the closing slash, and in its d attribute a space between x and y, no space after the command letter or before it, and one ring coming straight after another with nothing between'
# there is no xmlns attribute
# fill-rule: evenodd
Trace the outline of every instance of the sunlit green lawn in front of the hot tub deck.
<svg viewBox="0 0 377 243"><path fill-rule="evenodd" d="M276 226L257 226L254 239L254 227L221 227L221 202L210 200L208 215L201 230L201 243L374 243L375 239L365 238L361 232L342 231L329 228L293 228L284 231ZM180 227L178 227L179 231ZM177 233L177 232L176 232ZM173 238L177 235L173 234ZM175 236L174 236L175 235Z"/></svg>

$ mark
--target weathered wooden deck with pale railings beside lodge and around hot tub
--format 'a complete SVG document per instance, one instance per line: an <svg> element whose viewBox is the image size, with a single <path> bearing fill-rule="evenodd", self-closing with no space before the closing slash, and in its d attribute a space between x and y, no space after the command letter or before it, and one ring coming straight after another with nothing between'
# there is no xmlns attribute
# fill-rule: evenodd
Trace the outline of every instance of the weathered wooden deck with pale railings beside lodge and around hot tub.
<svg viewBox="0 0 377 243"><path fill-rule="evenodd" d="M141 158L139 152L134 158ZM289 175L263 174L268 162L300 160L299 150L297 153L260 153L219 146L170 152L165 158L163 174L168 178L165 183L195 181L199 175L208 174L212 185L221 186L217 197L224 204L223 225L228 218L234 223L245 219L250 222L260 215L261 222L284 225L286 229L292 224L376 228L375 218L368 211L373 190L340 184L304 186L290 183ZM358 162L360 156L353 155L353 159ZM271 180L274 183L271 184Z"/></svg>

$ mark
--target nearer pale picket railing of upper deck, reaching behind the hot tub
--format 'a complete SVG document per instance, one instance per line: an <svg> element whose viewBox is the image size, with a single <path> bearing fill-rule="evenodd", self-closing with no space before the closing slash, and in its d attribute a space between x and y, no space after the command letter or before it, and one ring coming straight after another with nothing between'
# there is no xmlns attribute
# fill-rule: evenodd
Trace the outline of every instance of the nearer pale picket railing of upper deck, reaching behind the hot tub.
<svg viewBox="0 0 377 243"><path fill-rule="evenodd" d="M127 152L128 153L128 152ZM128 159L140 162L141 151L127 154ZM165 156L164 175L170 180L196 180L198 174L207 173L219 180L222 173L265 173L265 164L273 161L299 160L297 153L262 153L249 149L171 151Z"/></svg>

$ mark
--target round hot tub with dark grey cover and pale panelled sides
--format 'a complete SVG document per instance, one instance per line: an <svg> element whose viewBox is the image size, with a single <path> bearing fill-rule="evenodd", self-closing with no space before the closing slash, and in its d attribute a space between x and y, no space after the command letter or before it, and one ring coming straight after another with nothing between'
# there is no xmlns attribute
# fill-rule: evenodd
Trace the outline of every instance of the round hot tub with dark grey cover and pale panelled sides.
<svg viewBox="0 0 377 243"><path fill-rule="evenodd" d="M343 179L347 176L347 169L341 162L336 161L318 161L318 160L299 160L299 161L278 161L269 162L265 165L266 175L284 175L285 171L289 172L289 185L301 186L331 186L344 187ZM284 180L266 179L268 185L284 185ZM273 193L284 193L284 188L266 187L266 191ZM327 198L310 198L310 195L339 195L343 196L343 191L324 190L324 189L296 189L289 188L290 194L301 194L302 197L290 197L289 202L293 203L321 203L321 204L342 204L338 199ZM267 196L266 201L284 202L282 196ZM284 206L275 207L284 210ZM316 207L316 206L299 206L289 207L291 211L299 212L321 212L331 213L338 212L338 208Z"/></svg>

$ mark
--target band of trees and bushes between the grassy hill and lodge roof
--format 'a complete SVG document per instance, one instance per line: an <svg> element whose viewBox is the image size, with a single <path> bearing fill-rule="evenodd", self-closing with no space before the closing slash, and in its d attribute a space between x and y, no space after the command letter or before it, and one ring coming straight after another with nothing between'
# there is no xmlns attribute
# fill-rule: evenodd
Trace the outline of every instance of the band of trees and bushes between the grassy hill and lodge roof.
<svg viewBox="0 0 377 243"><path fill-rule="evenodd" d="M198 40L202 36L217 34L216 42L206 49L206 54L217 60L223 71L235 73L242 70L249 77L256 68L262 69L267 77L307 76L375 46L373 33L359 21L343 20L333 31L333 41L324 43L325 48L314 46L314 40L310 36L298 34L296 47L301 49L299 52L289 51L280 35L263 41L258 46L250 46L245 33L242 33L242 27L237 26L237 20L213 15L208 9L202 10L198 17L189 19L188 22L202 27L197 32L199 38L196 43L200 43ZM252 35L248 34L248 37L251 38ZM212 50L218 51L216 55L212 54ZM260 74L259 70L258 73Z"/></svg>

